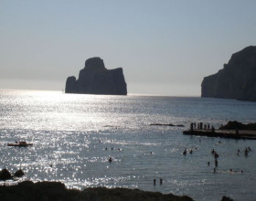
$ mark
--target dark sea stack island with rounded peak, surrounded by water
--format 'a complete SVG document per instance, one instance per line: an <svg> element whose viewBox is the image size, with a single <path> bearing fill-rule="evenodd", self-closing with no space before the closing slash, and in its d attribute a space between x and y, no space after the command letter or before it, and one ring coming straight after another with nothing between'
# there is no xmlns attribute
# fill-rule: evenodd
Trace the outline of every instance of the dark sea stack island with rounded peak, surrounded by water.
<svg viewBox="0 0 256 201"><path fill-rule="evenodd" d="M79 79L71 76L66 81L66 93L127 95L123 69L106 69L101 58L89 58Z"/></svg>

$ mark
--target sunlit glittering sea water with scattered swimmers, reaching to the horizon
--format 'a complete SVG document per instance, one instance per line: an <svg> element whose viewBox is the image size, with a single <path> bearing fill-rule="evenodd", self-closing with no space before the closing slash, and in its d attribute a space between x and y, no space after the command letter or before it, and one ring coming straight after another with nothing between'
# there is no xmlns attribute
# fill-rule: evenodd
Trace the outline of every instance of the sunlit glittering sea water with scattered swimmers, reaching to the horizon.
<svg viewBox="0 0 256 201"><path fill-rule="evenodd" d="M123 186L197 201L222 196L252 201L256 141L192 137L182 131L190 122L218 128L229 120L256 122L255 115L255 102L239 100L0 90L0 168L15 172L21 167L23 180L61 181L81 189ZM6 145L16 140L34 145ZM237 155L248 146L247 157ZM183 155L185 148L194 152ZM216 174L212 149L219 153Z"/></svg>

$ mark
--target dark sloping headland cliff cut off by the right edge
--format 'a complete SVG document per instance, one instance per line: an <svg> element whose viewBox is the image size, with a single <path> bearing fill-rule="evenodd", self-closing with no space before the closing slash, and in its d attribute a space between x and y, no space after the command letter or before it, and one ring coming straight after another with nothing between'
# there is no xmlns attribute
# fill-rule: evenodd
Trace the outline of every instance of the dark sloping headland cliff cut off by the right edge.
<svg viewBox="0 0 256 201"><path fill-rule="evenodd" d="M232 55L218 73L205 77L201 96L211 98L256 100L256 47Z"/></svg>

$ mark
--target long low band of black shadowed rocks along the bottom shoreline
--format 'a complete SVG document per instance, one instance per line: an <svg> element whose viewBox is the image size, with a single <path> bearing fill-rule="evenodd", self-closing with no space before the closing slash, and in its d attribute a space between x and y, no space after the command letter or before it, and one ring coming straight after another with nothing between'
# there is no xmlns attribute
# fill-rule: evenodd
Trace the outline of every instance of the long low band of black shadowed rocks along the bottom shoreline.
<svg viewBox="0 0 256 201"><path fill-rule="evenodd" d="M37 182L30 181L18 185L0 186L1 201L193 201L188 196L163 195L157 192L146 192L138 189L127 188L86 188L83 191L67 189L59 182Z"/></svg>

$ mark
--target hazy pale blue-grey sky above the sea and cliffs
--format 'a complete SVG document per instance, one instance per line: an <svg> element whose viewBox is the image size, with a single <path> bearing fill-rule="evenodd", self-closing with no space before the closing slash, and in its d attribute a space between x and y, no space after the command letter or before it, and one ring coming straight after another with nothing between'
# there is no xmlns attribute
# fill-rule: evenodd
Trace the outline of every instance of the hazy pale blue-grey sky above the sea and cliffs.
<svg viewBox="0 0 256 201"><path fill-rule="evenodd" d="M0 0L0 89L62 90L84 61L123 67L128 93L199 96L256 45L255 0Z"/></svg>

